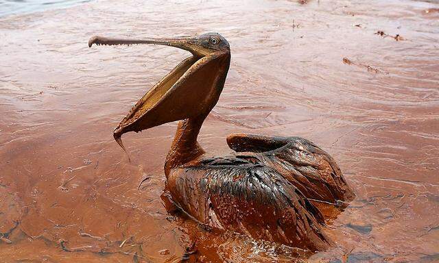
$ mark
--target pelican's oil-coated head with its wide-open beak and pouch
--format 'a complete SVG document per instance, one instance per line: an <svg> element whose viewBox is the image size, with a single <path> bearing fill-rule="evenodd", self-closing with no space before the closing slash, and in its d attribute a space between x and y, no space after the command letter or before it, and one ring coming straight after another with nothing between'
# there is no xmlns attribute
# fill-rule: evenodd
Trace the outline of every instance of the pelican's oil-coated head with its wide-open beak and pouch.
<svg viewBox="0 0 439 263"><path fill-rule="evenodd" d="M134 105L113 135L123 148L122 134L140 132L173 121L202 118L217 103L230 66L230 45L217 33L192 38L119 39L93 36L95 45L165 45L192 53Z"/></svg>

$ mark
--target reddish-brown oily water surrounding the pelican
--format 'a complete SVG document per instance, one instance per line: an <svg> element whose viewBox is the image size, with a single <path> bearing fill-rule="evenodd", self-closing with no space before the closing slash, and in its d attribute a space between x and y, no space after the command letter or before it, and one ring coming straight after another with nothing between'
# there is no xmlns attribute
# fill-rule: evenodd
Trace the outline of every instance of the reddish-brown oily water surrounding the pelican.
<svg viewBox="0 0 439 263"><path fill-rule="evenodd" d="M103 0L0 18L0 262L438 262L438 8ZM227 38L232 61L200 144L224 155L226 136L246 132L302 136L330 153L357 197L327 221L327 251L168 214L176 123L124 135L131 162L112 138L189 53L89 49L88 38L205 32Z"/></svg>

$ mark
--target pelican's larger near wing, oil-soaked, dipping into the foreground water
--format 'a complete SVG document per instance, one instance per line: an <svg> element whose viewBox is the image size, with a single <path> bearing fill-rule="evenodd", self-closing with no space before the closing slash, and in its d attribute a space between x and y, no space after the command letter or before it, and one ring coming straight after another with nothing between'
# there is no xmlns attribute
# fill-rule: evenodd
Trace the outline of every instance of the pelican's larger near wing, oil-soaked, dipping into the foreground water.
<svg viewBox="0 0 439 263"><path fill-rule="evenodd" d="M330 243L319 210L276 170L245 158L214 158L176 168L171 196L198 221L311 250Z"/></svg>

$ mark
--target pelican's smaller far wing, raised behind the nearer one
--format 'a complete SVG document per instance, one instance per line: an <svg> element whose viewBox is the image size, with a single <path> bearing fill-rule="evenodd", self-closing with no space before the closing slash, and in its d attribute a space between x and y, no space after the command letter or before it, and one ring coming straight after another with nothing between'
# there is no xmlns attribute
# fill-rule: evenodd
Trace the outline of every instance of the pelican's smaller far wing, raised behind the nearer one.
<svg viewBox="0 0 439 263"><path fill-rule="evenodd" d="M253 159L276 170L309 199L337 203L354 197L335 160L309 140L232 134L227 142L239 154L254 153Z"/></svg>

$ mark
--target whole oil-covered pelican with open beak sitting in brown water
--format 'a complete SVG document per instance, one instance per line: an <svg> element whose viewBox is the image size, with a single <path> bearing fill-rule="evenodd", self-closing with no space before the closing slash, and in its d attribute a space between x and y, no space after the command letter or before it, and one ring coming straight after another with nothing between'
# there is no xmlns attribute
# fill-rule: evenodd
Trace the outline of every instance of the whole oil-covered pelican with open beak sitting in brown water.
<svg viewBox="0 0 439 263"><path fill-rule="evenodd" d="M230 66L230 47L219 34L193 38L115 39L94 36L88 46L167 45L192 53L152 87L114 132L140 132L180 121L165 162L166 192L197 221L292 247L325 249L324 218L310 199L348 200L348 188L331 156L298 137L232 134L236 153L211 158L197 136L218 101Z"/></svg>

